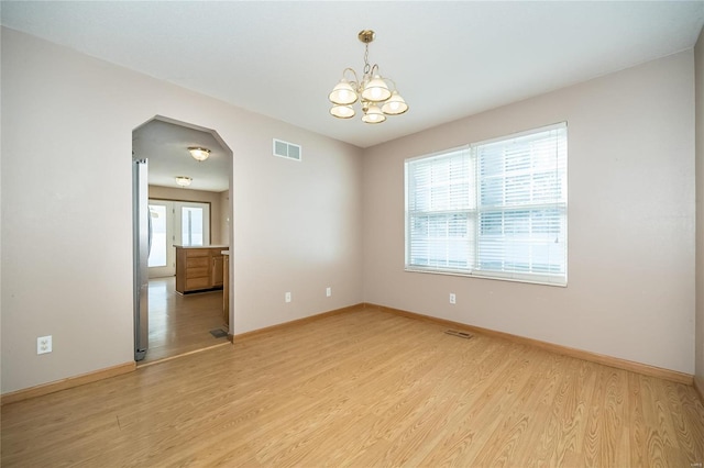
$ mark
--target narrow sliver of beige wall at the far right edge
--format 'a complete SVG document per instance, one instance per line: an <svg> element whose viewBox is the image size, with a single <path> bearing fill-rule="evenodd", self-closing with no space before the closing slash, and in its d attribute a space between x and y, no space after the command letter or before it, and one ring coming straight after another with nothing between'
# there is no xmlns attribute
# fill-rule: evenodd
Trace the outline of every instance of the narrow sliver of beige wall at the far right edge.
<svg viewBox="0 0 704 468"><path fill-rule="evenodd" d="M696 339L695 379L704 389L704 30L694 48L696 64Z"/></svg>

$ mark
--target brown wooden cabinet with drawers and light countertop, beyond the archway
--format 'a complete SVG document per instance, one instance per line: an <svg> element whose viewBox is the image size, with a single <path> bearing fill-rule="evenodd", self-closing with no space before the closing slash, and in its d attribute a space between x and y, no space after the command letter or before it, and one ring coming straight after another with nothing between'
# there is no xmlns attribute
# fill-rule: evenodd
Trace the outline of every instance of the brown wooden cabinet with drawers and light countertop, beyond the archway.
<svg viewBox="0 0 704 468"><path fill-rule="evenodd" d="M176 291L222 288L222 247L176 246Z"/></svg>

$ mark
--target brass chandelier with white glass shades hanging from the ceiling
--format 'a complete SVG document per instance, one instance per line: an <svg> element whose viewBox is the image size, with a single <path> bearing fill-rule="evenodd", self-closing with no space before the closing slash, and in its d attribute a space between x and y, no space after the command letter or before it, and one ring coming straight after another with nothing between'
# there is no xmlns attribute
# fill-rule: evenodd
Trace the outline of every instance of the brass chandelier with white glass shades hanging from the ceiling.
<svg viewBox="0 0 704 468"><path fill-rule="evenodd" d="M364 75L360 80L354 69L342 70L342 79L328 96L334 104L330 113L338 119L353 118L355 112L352 104L360 101L362 121L365 123L382 123L386 115L403 114L408 110L408 104L396 91L396 83L378 75L378 65L371 66L369 63L370 43L374 41L374 31L361 31L358 37L364 43ZM353 79L348 79L348 71ZM386 81L391 82L393 90L388 89Z"/></svg>

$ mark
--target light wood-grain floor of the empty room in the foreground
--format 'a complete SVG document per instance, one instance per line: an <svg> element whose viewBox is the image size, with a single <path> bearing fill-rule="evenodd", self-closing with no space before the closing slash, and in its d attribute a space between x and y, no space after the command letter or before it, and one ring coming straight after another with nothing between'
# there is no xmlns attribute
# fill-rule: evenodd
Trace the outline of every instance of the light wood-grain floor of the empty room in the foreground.
<svg viewBox="0 0 704 468"><path fill-rule="evenodd" d="M692 387L359 309L2 406L3 467L704 461Z"/></svg>

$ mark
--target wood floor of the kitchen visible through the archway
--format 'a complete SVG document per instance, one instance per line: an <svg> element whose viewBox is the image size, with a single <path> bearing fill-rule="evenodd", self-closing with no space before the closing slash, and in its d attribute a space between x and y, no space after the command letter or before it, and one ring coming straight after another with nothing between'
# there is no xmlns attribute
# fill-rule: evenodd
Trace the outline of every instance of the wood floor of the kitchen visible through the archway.
<svg viewBox="0 0 704 468"><path fill-rule="evenodd" d="M150 279L150 345L144 365L167 357L208 348L228 341L211 330L228 331L222 322L222 291L182 296L175 277Z"/></svg>

